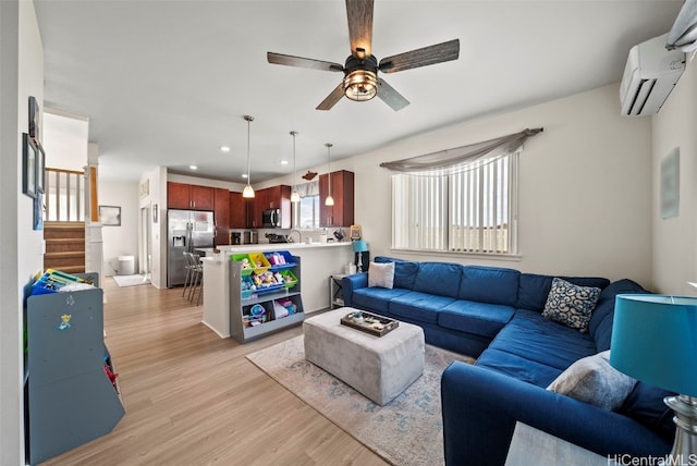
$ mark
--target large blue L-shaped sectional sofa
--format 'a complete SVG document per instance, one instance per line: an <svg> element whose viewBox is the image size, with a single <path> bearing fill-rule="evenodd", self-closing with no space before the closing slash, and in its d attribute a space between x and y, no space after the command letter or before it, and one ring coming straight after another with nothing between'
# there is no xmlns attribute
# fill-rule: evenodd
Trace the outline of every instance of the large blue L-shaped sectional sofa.
<svg viewBox="0 0 697 466"><path fill-rule="evenodd" d="M631 280L562 277L601 289L587 332L542 317L553 277L449 262L394 262L393 287L368 286L367 273L342 280L344 304L415 323L436 346L477 357L442 375L445 462L503 465L516 421L600 455L667 454L670 393L637 382L616 410L546 388L573 363L610 348L614 297L645 293Z"/></svg>

